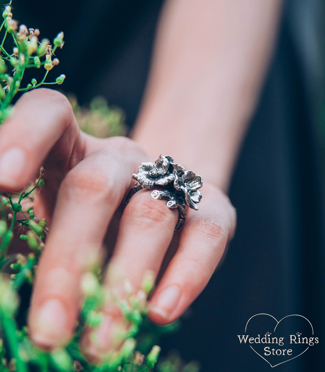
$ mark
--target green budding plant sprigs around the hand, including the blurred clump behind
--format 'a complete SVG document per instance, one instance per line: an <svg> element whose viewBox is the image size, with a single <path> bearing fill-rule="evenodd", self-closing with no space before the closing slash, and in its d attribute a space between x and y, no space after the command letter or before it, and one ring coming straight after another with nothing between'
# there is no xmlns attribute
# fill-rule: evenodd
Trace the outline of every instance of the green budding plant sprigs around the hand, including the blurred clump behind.
<svg viewBox="0 0 325 372"><path fill-rule="evenodd" d="M11 2L3 11L3 23L0 32L3 33L0 44L0 124L9 117L12 102L17 93L27 92L43 85L62 84L65 76L48 82L49 71L59 63L54 52L64 45L63 32L53 40L54 47L48 39L38 41L39 30L27 29L12 19ZM11 49L13 46L13 51ZM26 87L22 87L24 72L27 68L44 69L44 76L38 83L32 79ZM88 114L79 108L77 101L75 113L80 119L88 115L85 128L90 128L89 122L95 117L107 126L107 135L124 134L123 114L118 109L111 109L102 99L91 103ZM104 125L104 126L105 126ZM103 128L101 128L103 129ZM89 129L90 130L90 129ZM100 131L103 134L103 131ZM94 134L94 133L93 133ZM109 301L118 306L124 315L127 328L116 335L121 345L109 353L100 365L91 365L85 360L79 349L79 340L86 327L98 327L103 316L101 309L107 300L107 291L101 286L101 270L97 266L90 267L81 280L84 294L79 322L74 337L65 347L45 351L36 347L29 338L26 320L21 317L20 324L17 315L21 304L19 291L22 286L31 286L37 270L37 262L45 244L48 228L45 219L38 220L33 211L33 198L39 188L45 186L44 170L41 168L38 179L33 185L19 193L2 192L0 200L0 372L28 371L89 371L89 372L145 372L152 369L160 352L155 345L157 335L177 328L177 323L158 327L149 322L146 317L147 297L153 288L153 278L150 273L143 280L142 289L134 294L126 290L123 300L110 294ZM16 234L14 234L14 232ZM18 234L17 234L18 233ZM27 253L12 254L10 247L17 245L19 238L25 243L23 251ZM16 240L15 240L16 239ZM14 243L14 244L11 244ZM126 283L126 288L130 288ZM144 356L144 353L147 356ZM175 363L170 369L165 363L160 371L175 371ZM166 369L167 368L167 369ZM184 369L183 369L184 368ZM182 366L177 371L196 371Z"/></svg>

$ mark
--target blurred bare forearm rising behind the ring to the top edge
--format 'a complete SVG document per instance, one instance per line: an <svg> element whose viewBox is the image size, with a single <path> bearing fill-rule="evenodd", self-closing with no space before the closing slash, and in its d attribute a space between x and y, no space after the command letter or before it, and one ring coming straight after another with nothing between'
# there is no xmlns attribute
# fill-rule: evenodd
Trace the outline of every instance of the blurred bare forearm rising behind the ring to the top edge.
<svg viewBox="0 0 325 372"><path fill-rule="evenodd" d="M280 9L281 0L167 1L132 138L227 189Z"/></svg>

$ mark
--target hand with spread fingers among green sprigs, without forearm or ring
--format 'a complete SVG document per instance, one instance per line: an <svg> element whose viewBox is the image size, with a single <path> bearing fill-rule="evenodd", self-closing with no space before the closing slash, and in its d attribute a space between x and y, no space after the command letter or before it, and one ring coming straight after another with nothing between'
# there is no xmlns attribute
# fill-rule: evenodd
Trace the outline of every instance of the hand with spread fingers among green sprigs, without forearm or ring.
<svg viewBox="0 0 325 372"><path fill-rule="evenodd" d="M205 184L199 211L189 209L176 234L178 211L152 199L147 190L136 193L120 213L134 184L131 174L148 160L153 159L128 138L98 139L79 131L68 100L53 90L24 94L1 125L0 188L19 191L36 178L42 164L46 171L47 186L35 201L35 212L48 220L50 233L29 312L30 334L39 346L62 344L72 336L85 263L100 251L106 234L113 240L108 227L114 216L121 215L111 263L135 290L146 270L159 273L171 241L178 242L150 300L152 321L166 324L178 318L208 283L233 236L235 210L224 193ZM104 283L118 287L118 280L107 274ZM95 330L98 343L85 335L89 357L98 358L110 348L119 321L107 311Z"/></svg>

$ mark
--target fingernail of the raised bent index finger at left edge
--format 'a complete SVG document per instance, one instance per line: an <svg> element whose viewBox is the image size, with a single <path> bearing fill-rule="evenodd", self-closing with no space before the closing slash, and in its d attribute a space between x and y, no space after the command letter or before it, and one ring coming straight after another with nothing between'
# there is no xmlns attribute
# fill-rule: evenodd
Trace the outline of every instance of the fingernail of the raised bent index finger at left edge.
<svg viewBox="0 0 325 372"><path fill-rule="evenodd" d="M0 183L15 186L26 167L25 152L12 147L0 155Z"/></svg>

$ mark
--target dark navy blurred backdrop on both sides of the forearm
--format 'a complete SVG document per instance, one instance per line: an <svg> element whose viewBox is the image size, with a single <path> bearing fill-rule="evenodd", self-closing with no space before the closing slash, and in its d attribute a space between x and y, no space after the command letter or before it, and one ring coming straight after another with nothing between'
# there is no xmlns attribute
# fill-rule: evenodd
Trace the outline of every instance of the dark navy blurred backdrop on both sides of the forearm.
<svg viewBox="0 0 325 372"><path fill-rule="evenodd" d="M51 71L86 103L102 94L139 109L163 1L13 1L14 18L53 39L65 32ZM287 1L272 64L230 190L238 213L224 263L182 322L162 341L202 371L268 371L240 344L247 320L268 313L308 318L320 343L277 371L321 371L324 352L324 2ZM217 140L216 140L217 145Z"/></svg>

